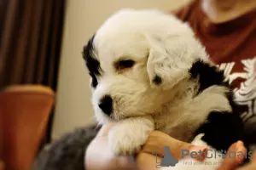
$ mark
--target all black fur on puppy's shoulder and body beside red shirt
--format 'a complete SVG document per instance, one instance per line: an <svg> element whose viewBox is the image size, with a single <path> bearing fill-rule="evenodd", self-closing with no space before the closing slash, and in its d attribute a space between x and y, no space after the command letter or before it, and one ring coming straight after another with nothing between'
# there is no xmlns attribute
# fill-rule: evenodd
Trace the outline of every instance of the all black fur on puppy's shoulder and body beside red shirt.
<svg viewBox="0 0 256 170"><path fill-rule="evenodd" d="M220 71L217 66L209 65L202 60L197 60L192 65L189 73L191 79L199 79L199 93L213 85L230 88L229 83L225 81L224 71ZM249 145L252 142L245 135L238 105L235 102L235 96L231 88L226 94L226 98L230 101L232 112L212 111L207 117L207 122L201 125L195 135L204 133L202 140L219 151L227 151L230 145L238 140L243 141L245 147L249 150ZM244 163L247 161L248 158Z"/></svg>

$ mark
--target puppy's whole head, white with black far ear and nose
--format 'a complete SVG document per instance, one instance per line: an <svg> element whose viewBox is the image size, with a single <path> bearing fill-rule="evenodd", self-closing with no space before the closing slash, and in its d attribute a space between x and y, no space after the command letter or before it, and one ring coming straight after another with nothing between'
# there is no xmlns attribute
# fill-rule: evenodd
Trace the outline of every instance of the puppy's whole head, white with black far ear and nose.
<svg viewBox="0 0 256 170"><path fill-rule="evenodd" d="M189 27L167 14L113 14L84 47L98 122L160 112L199 48Z"/></svg>

